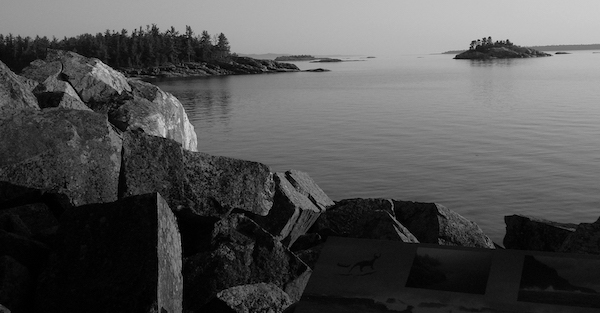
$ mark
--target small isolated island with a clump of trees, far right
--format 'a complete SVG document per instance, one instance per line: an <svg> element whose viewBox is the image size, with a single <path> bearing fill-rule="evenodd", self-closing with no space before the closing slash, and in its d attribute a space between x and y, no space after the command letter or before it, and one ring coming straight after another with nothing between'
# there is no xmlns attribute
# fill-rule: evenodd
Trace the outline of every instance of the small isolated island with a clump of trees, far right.
<svg viewBox="0 0 600 313"><path fill-rule="evenodd" d="M471 41L469 50L457 54L454 59L488 60L546 56L551 55L535 49L517 46L508 39L494 42L492 37L483 37L482 39Z"/></svg>

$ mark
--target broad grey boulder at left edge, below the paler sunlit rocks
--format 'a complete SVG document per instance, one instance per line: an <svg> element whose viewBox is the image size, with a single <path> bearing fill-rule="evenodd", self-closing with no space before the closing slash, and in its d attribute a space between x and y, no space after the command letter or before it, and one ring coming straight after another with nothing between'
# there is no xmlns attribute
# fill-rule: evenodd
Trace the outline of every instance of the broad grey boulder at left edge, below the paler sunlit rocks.
<svg viewBox="0 0 600 313"><path fill-rule="evenodd" d="M22 112L0 129L0 180L65 194L73 205L117 199L122 140L105 115Z"/></svg>

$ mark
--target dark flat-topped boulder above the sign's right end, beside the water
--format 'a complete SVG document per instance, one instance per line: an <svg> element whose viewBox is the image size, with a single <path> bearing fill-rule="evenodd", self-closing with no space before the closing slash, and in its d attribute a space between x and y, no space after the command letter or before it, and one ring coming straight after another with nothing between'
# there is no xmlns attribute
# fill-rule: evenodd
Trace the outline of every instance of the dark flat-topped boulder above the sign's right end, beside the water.
<svg viewBox="0 0 600 313"><path fill-rule="evenodd" d="M505 216L504 222L504 247L517 250L557 252L577 227L523 215Z"/></svg>

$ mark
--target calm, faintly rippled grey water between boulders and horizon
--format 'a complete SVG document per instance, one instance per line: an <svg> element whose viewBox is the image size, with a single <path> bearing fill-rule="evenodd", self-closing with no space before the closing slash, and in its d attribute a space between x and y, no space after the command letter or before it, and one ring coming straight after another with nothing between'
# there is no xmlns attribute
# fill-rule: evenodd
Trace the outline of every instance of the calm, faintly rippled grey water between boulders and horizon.
<svg viewBox="0 0 600 313"><path fill-rule="evenodd" d="M334 200L437 202L497 242L504 215L600 216L600 54L296 64L332 71L155 83L200 151L308 172Z"/></svg>

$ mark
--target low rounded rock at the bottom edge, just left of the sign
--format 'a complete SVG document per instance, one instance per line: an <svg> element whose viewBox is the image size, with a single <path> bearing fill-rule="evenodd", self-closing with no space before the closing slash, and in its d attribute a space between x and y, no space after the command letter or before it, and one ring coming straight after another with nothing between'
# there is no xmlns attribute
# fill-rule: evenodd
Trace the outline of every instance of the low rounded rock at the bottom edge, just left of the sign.
<svg viewBox="0 0 600 313"><path fill-rule="evenodd" d="M280 313L292 300L273 284L235 286L217 293L205 307L206 312Z"/></svg>

